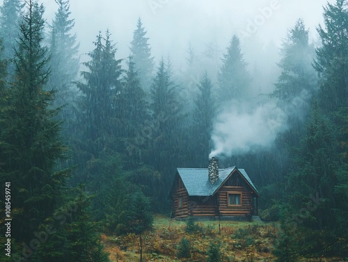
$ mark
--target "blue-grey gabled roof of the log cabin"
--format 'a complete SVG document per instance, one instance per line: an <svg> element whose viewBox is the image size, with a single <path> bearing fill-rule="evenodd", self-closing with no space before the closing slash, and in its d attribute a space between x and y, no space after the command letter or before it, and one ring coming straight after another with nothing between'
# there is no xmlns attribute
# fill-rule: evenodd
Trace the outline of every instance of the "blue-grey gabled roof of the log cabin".
<svg viewBox="0 0 348 262"><path fill-rule="evenodd" d="M225 169L219 169L219 179L214 184L210 183L208 178L207 168L177 168L182 182L184 183L187 193L190 196L206 197L214 195L216 190L226 181L228 176L234 171L239 170L244 179L248 181L253 190L258 193L253 182L248 177L244 169L237 169L236 167L228 167Z"/></svg>

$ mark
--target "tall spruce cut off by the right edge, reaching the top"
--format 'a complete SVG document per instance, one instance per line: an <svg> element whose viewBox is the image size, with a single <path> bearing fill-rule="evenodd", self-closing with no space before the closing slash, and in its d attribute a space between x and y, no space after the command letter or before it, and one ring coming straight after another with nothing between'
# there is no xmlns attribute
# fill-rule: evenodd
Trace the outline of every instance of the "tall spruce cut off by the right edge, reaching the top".
<svg viewBox="0 0 348 262"><path fill-rule="evenodd" d="M346 0L336 0L324 7L324 26L318 26L322 46L317 48L315 69L319 74L319 106L335 125L337 152L340 154L335 165L335 215L336 235L344 236L347 246L347 108L348 108L348 10ZM347 252L345 252L347 256Z"/></svg>

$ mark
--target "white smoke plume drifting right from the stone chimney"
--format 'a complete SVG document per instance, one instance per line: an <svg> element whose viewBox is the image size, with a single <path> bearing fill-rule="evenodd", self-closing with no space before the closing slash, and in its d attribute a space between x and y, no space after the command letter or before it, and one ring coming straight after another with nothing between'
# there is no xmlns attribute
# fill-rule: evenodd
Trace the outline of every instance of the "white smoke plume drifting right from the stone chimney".
<svg viewBox="0 0 348 262"><path fill-rule="evenodd" d="M308 92L293 99L288 106L280 108L275 101L267 101L254 110L240 110L241 105L231 101L218 115L214 123L212 141L213 156L232 156L251 152L253 149L271 147L278 133L287 129L287 117L297 115L307 104Z"/></svg>

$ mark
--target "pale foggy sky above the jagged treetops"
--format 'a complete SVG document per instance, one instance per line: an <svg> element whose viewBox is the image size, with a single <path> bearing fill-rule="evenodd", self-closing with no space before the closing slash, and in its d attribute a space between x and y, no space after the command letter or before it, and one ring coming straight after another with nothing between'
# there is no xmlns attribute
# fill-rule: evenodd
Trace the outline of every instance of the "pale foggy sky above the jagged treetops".
<svg viewBox="0 0 348 262"><path fill-rule="evenodd" d="M46 8L47 22L50 22L57 5L54 0L40 2ZM315 26L322 23L322 6L325 4L324 0L72 0L70 11L75 19L74 31L81 54L93 49L98 31L109 28L113 41L117 42L118 56L127 57L136 19L141 17L155 59L158 61L161 56L170 55L174 66L180 67L185 63L189 42L198 53L204 51L209 42L214 42L223 52L232 34L240 33L247 35L242 49L247 62L253 63L253 51L267 47L269 42L279 45L287 29L300 17L310 28L310 37L315 39ZM262 13L265 8L272 7L276 8L270 15ZM254 22L257 25L250 30L249 25Z"/></svg>

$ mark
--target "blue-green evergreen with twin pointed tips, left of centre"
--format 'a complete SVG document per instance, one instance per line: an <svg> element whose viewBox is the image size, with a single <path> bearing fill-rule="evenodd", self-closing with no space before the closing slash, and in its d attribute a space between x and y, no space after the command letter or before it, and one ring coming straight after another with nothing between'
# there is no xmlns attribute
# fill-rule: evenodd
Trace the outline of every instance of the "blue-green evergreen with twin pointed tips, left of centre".
<svg viewBox="0 0 348 262"><path fill-rule="evenodd" d="M116 60L116 47L106 31L106 38L97 35L95 49L88 56L91 60L84 65L89 71L81 72L86 83L77 83L77 88L84 94L81 97L81 116L78 120L84 126L82 140L90 147L88 154L97 157L98 152L105 147L105 142L111 135L116 135L114 122L116 119L116 95L121 91L120 76L121 61ZM80 134L77 134L80 137ZM87 143L86 143L87 141Z"/></svg>

